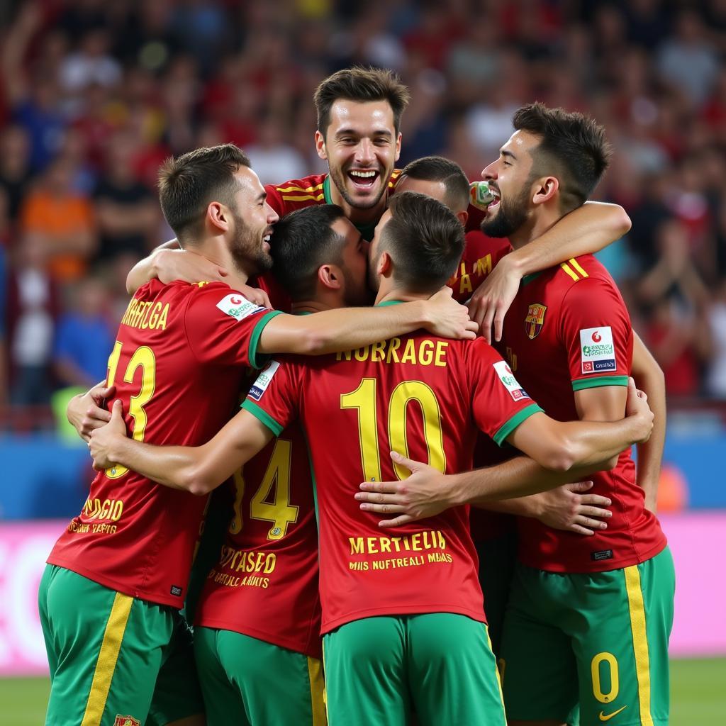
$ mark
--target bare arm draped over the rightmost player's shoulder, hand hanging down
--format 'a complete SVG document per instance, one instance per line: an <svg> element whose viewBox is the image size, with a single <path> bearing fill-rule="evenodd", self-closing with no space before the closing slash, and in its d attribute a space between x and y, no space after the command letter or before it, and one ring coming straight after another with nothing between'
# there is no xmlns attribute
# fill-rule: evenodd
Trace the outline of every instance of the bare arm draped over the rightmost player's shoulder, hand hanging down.
<svg viewBox="0 0 726 726"><path fill-rule="evenodd" d="M586 202L563 216L537 240L505 255L468 303L481 335L491 341L493 323L494 339L502 339L505 314L525 275L597 252L622 237L630 226L630 218L621 206Z"/></svg>

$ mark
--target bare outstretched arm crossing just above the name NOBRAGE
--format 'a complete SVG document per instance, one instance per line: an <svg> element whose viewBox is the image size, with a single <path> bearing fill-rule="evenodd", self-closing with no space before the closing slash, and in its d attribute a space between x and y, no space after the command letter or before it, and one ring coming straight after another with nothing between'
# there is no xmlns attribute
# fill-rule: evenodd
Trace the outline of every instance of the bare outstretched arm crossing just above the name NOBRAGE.
<svg viewBox="0 0 726 726"><path fill-rule="evenodd" d="M444 287L428 300L375 308L342 308L314 315L277 315L264 327L258 351L322 355L425 328L444 338L476 338L465 306Z"/></svg>

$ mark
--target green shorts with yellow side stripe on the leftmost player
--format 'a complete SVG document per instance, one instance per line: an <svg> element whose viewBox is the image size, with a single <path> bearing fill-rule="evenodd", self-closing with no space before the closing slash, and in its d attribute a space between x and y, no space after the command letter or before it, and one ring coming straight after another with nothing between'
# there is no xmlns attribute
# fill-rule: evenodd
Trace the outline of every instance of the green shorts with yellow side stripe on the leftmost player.
<svg viewBox="0 0 726 726"><path fill-rule="evenodd" d="M203 712L189 628L174 608L54 565L38 607L51 679L47 724L115 726L126 717L163 726Z"/></svg>

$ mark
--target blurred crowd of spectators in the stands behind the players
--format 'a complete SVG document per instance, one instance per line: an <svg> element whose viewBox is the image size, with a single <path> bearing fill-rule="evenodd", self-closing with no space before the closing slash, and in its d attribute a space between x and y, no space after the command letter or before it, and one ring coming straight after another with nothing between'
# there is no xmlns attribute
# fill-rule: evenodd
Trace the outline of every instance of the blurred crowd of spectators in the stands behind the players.
<svg viewBox="0 0 726 726"><path fill-rule="evenodd" d="M0 408L105 376L126 272L171 236L161 160L235 142L263 183L325 167L312 93L354 63L412 91L400 166L471 179L540 99L615 154L605 250L669 396L726 399L726 0L17 0L0 9ZM5 406L7 404L7 407Z"/></svg>

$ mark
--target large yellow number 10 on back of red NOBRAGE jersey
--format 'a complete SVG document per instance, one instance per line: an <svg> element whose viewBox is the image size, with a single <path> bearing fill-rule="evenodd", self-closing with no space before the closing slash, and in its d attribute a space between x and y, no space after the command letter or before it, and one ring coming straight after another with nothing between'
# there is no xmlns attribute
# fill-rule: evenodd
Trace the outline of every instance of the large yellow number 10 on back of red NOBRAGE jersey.
<svg viewBox="0 0 726 726"><path fill-rule="evenodd" d="M378 448L378 411L375 400L375 378L364 378L355 391L340 396L341 409L358 410L358 434L361 463L366 481L380 481L380 449ZM416 401L423 415L423 436L428 450L428 465L441 472L446 470L444 436L441 433L441 410L436 394L420 380L405 380L393 388L388 401L388 444L393 451L409 455L406 420L409 403ZM394 464L396 476L405 479L409 471Z"/></svg>

